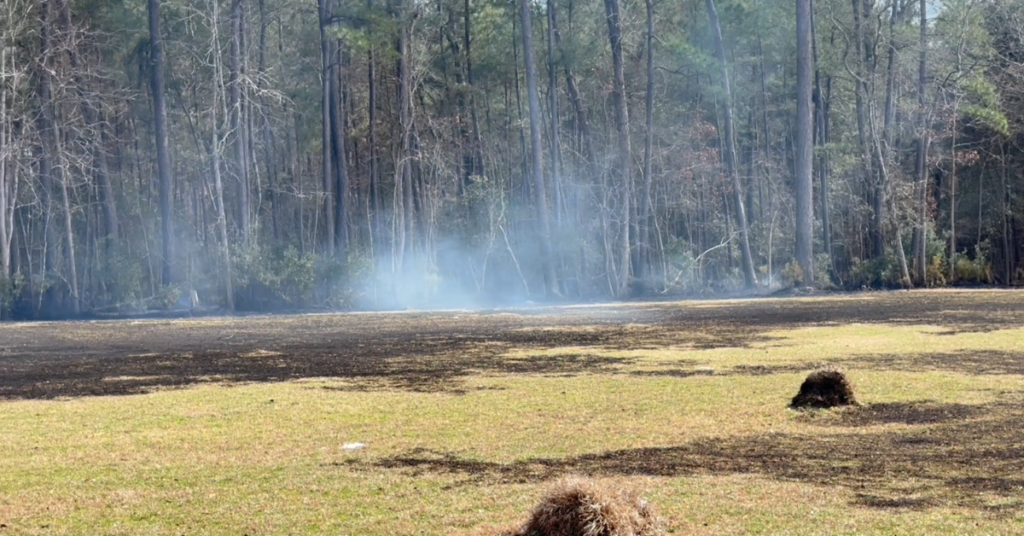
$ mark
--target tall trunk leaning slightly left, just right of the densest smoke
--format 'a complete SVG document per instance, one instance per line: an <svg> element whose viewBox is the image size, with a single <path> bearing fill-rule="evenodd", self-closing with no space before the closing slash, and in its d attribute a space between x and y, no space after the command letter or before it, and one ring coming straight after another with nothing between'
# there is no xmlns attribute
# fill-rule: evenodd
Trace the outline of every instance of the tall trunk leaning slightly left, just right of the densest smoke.
<svg viewBox="0 0 1024 536"><path fill-rule="evenodd" d="M541 240L542 270L548 296L560 296L558 279L555 277L554 251L551 247L551 217L548 213L547 189L544 183L543 146L541 145L541 95L537 89L537 66L534 53L534 35L530 29L529 0L519 0L519 16L522 25L523 65L526 73L526 95L529 101L529 146L530 174L534 178L534 203L537 205L539 238Z"/></svg>

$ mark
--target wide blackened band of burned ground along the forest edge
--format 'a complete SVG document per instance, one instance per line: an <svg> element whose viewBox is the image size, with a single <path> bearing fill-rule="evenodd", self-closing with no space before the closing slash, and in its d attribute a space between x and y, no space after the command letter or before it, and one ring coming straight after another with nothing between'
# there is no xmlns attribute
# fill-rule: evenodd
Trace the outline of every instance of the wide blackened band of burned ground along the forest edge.
<svg viewBox="0 0 1024 536"><path fill-rule="evenodd" d="M477 373L614 371L592 348L745 346L772 330L845 323L928 324L948 333L1024 325L1024 294L889 292L829 298L543 306L508 311L226 317L0 325L0 399L120 396L204 382L352 380L352 388L458 391ZM561 354L509 360L511 348ZM1024 351L1022 351L1024 352ZM981 372L1024 372L1000 355ZM971 369L963 356L900 366ZM884 366L885 363L880 363ZM890 364L892 365L892 364ZM768 367L734 373L787 372ZM668 370L688 376L693 370Z"/></svg>

